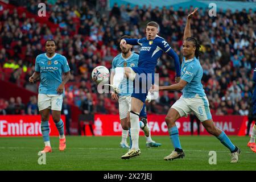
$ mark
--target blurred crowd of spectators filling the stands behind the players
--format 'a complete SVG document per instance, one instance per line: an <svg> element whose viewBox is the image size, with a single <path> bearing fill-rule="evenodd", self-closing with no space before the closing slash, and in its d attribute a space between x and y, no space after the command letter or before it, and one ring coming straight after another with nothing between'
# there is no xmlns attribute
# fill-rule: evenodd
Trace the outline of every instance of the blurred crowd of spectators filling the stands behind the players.
<svg viewBox="0 0 256 182"><path fill-rule="evenodd" d="M100 1L100 11L85 1L81 6L69 6L65 0L47 5L48 20L57 28L27 18L25 13L18 14L16 9L0 9L0 69L12 68L9 80L35 92L38 83L27 82L34 71L35 57L44 52L47 39L55 39L57 52L67 57L71 68L72 78L65 91L68 103L77 105L84 113L118 113L118 105L110 100L110 94L97 93L97 86L90 79L92 69L97 65L111 68L119 53L120 37L142 38L149 21L158 22L159 36L170 43L181 61L185 22L194 7L175 11L173 7L114 5L107 11L105 2ZM37 3L26 1L26 5L27 11L36 16ZM192 20L191 30L192 36L201 42L202 83L212 114L246 115L254 88L255 12L220 10L216 17L210 17L208 9L200 9ZM139 46L134 46L133 51L139 52ZM172 58L164 54L156 73L160 85L174 84ZM163 92L159 100L147 105L147 110L166 114L179 96L178 92ZM9 102L12 105L13 101Z"/></svg>

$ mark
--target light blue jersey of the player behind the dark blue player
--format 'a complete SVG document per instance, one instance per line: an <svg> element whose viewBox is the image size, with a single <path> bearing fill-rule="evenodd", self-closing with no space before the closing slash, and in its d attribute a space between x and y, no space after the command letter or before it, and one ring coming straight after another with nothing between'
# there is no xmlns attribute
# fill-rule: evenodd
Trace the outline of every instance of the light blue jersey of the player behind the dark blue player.
<svg viewBox="0 0 256 182"><path fill-rule="evenodd" d="M115 56L112 62L112 69L117 67L138 67L139 55L137 53L131 53L131 56L127 59L123 58L122 53ZM133 81L124 78L119 85L121 93L119 96L131 96L133 93Z"/></svg>

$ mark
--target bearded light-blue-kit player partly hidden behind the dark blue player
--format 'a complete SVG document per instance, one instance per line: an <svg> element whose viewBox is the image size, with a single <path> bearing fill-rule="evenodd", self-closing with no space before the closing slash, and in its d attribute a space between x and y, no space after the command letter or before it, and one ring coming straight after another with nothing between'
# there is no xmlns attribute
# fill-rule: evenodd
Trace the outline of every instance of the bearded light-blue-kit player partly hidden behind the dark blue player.
<svg viewBox="0 0 256 182"><path fill-rule="evenodd" d="M122 36L123 38L130 38L130 36ZM121 48L122 53L115 56L112 61L112 74L110 76L110 83L113 84L114 77L114 69L117 67L137 67L139 55L137 53L131 52L132 46L130 44L126 44L125 47ZM133 81L130 81L127 78L123 78L121 84L119 85L119 89L121 92L117 95L112 93L112 100L117 100L119 102L119 117L122 126L122 141L120 146L122 148L130 148L127 144L127 135L130 128L130 122L128 121L129 112L131 109L131 94L133 93ZM119 96L119 97L118 97ZM160 143L156 143L152 140L150 135L150 129L147 124L147 114L145 104L143 109L139 115L141 121L139 122L139 126L144 131L146 137L146 146L147 147L159 147ZM131 144L131 143L130 143Z"/></svg>

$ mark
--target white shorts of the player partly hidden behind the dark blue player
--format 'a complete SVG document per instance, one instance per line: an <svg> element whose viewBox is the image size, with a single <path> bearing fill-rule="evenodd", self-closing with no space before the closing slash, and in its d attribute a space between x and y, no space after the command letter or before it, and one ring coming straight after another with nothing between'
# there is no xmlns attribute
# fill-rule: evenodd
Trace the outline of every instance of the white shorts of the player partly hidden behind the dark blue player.
<svg viewBox="0 0 256 182"><path fill-rule="evenodd" d="M121 96L118 98L118 102L120 120L127 118L128 112L131 111L131 96Z"/></svg>

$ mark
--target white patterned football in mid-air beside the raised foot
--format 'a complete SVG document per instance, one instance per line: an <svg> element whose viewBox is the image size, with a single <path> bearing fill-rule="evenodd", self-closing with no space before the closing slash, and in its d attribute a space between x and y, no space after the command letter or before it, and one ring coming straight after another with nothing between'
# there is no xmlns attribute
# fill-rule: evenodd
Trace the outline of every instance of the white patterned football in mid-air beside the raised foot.
<svg viewBox="0 0 256 182"><path fill-rule="evenodd" d="M109 81L109 70L104 66L98 66L92 71L92 80L97 84L108 83Z"/></svg>

